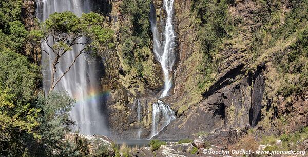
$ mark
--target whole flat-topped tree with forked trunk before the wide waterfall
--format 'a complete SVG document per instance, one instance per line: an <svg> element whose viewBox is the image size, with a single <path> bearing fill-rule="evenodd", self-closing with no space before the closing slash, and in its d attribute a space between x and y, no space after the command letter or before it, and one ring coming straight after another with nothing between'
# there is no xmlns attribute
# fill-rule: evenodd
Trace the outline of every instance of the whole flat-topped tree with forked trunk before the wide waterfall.
<svg viewBox="0 0 308 157"><path fill-rule="evenodd" d="M57 83L64 75L72 68L77 58L83 53L97 53L114 47L113 35L114 32L110 28L103 27L104 17L97 13L83 14L82 17L77 17L72 12L66 11L63 13L54 13L42 23L41 34L30 33L32 36L41 36L51 51L43 50L50 57L54 56L51 65L51 85L49 93L55 88ZM85 40L82 40L85 38ZM83 45L69 67L55 78L57 65L60 59L67 53L73 53L72 47L75 45Z"/></svg>

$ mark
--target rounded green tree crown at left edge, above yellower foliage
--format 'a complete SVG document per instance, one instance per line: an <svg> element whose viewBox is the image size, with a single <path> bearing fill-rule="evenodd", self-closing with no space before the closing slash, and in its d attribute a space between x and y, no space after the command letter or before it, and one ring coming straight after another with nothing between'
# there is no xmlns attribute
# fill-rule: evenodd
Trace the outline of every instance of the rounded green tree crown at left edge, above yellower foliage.
<svg viewBox="0 0 308 157"><path fill-rule="evenodd" d="M38 66L30 64L25 56L0 48L0 85L16 96L16 105L24 105L33 99L40 82L38 71Z"/></svg>

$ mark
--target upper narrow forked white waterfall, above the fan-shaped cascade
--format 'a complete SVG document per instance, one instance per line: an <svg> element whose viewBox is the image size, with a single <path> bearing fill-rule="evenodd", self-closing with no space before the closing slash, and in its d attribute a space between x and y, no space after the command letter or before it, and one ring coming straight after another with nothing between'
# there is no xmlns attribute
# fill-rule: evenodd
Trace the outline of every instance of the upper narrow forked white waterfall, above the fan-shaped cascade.
<svg viewBox="0 0 308 157"><path fill-rule="evenodd" d="M164 41L160 41L157 26L156 26L156 11L151 6L151 29L153 32L154 47L153 51L157 60L161 63L164 74L164 90L161 98L168 96L168 92L172 87L172 67L175 63L175 32L172 25L172 18L174 12L174 0L164 0L164 9L167 13L166 25L164 28Z"/></svg>

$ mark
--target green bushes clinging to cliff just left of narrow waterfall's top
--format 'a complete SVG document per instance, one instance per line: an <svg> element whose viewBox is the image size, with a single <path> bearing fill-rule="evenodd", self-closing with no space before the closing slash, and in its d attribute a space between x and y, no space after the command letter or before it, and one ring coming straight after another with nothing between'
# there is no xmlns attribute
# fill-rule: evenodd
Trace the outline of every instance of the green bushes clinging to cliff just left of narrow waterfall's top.
<svg viewBox="0 0 308 157"><path fill-rule="evenodd" d="M129 25L120 29L121 53L125 72L144 76L143 62L149 60L150 45L150 3L151 1L124 0L121 10Z"/></svg>

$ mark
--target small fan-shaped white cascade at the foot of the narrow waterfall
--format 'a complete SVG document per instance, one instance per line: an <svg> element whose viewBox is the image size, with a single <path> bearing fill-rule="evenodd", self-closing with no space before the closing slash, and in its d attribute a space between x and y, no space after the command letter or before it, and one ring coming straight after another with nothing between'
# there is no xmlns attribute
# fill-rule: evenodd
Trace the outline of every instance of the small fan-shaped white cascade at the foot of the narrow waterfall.
<svg viewBox="0 0 308 157"><path fill-rule="evenodd" d="M176 119L175 112L160 100L153 104L152 110L152 132L150 139L162 131L171 121Z"/></svg>

